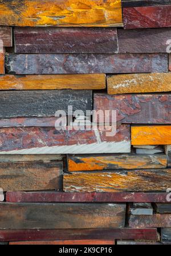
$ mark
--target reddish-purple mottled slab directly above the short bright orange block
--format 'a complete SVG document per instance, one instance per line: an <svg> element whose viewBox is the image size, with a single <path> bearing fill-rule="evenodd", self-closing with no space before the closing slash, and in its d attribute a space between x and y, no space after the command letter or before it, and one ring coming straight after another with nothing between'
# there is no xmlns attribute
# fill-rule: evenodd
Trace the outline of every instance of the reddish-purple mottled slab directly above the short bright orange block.
<svg viewBox="0 0 171 256"><path fill-rule="evenodd" d="M171 124L171 94L94 94L93 99L96 111L116 110L117 123ZM112 120L112 111L105 113L105 117ZM148 141L145 145L153 144Z"/></svg>

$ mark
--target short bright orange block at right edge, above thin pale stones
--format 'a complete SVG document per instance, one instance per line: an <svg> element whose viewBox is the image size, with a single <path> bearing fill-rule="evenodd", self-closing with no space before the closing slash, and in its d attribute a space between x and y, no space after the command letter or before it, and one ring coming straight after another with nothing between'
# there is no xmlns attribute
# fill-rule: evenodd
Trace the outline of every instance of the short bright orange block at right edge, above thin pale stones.
<svg viewBox="0 0 171 256"><path fill-rule="evenodd" d="M131 144L169 145L171 144L171 125L132 126Z"/></svg>

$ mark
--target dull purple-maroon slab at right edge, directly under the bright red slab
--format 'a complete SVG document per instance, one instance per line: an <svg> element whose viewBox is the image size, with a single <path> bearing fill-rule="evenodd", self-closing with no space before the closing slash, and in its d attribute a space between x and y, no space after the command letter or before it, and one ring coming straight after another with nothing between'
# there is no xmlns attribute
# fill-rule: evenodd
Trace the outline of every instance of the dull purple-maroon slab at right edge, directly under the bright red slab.
<svg viewBox="0 0 171 256"><path fill-rule="evenodd" d="M167 52L171 29L118 29L120 53Z"/></svg>

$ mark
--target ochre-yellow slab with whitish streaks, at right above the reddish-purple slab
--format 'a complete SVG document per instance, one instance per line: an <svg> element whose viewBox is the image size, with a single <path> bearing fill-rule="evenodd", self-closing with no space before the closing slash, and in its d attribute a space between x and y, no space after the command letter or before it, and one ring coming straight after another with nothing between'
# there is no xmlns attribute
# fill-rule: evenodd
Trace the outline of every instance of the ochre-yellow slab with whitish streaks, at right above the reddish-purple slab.
<svg viewBox="0 0 171 256"><path fill-rule="evenodd" d="M108 94L170 92L171 73L125 74L107 76L107 88Z"/></svg>

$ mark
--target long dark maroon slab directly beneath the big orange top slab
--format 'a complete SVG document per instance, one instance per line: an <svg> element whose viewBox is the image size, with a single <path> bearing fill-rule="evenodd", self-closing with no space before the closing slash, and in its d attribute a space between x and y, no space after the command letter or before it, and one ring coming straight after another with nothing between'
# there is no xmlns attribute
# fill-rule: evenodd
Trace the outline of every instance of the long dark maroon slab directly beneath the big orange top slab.
<svg viewBox="0 0 171 256"><path fill-rule="evenodd" d="M14 36L19 54L118 52L114 28L17 27Z"/></svg>

